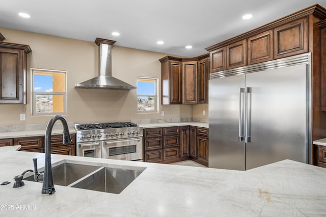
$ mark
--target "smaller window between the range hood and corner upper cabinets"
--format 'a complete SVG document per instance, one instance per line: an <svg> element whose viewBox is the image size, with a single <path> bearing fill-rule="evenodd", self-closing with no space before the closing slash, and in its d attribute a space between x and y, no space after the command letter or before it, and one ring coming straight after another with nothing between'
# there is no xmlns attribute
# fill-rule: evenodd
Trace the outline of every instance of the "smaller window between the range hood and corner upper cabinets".
<svg viewBox="0 0 326 217"><path fill-rule="evenodd" d="M137 78L137 110L139 113L157 112L157 78Z"/></svg>

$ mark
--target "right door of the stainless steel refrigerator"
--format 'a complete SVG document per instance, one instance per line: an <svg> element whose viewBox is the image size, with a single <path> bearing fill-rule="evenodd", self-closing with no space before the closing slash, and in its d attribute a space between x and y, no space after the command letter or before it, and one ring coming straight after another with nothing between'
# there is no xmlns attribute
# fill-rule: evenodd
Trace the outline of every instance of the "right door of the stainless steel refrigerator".
<svg viewBox="0 0 326 217"><path fill-rule="evenodd" d="M246 74L246 170L283 159L307 162L307 65Z"/></svg>

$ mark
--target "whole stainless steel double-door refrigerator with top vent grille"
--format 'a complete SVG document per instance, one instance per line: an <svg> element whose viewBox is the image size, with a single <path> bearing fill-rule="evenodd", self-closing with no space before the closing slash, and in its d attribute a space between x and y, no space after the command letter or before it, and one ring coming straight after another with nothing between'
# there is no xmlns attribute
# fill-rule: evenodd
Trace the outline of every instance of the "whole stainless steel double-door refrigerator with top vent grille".
<svg viewBox="0 0 326 217"><path fill-rule="evenodd" d="M310 162L310 62L306 53L210 75L210 168Z"/></svg>

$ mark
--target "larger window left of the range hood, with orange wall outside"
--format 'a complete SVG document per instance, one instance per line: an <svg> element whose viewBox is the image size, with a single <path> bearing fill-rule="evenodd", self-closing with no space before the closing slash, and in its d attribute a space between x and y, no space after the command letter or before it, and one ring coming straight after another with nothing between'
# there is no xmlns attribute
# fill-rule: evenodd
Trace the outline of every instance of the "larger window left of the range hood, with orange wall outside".
<svg viewBox="0 0 326 217"><path fill-rule="evenodd" d="M32 69L32 115L66 115L66 72Z"/></svg>

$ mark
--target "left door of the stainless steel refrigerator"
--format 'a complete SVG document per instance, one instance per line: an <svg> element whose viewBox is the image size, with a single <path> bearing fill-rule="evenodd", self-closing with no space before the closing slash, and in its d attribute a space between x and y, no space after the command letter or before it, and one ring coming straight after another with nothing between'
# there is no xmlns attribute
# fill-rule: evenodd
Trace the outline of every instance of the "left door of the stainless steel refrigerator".
<svg viewBox="0 0 326 217"><path fill-rule="evenodd" d="M245 146L238 141L240 87L244 74L209 80L208 167L245 169Z"/></svg>

